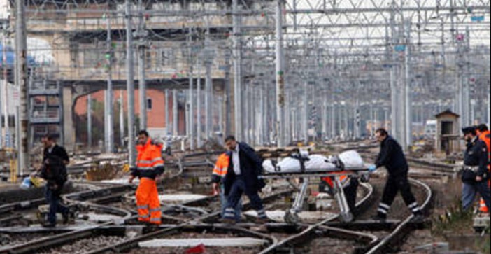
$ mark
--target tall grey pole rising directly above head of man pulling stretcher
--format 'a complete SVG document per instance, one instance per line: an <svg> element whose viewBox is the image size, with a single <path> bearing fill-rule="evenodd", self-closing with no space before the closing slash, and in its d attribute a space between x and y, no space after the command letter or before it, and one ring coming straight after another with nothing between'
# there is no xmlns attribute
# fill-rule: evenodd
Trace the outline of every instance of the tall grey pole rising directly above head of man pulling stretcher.
<svg viewBox="0 0 491 254"><path fill-rule="evenodd" d="M242 126L242 38L241 18L239 17L239 0L232 0L234 24L234 115L235 136L237 140L243 139Z"/></svg>

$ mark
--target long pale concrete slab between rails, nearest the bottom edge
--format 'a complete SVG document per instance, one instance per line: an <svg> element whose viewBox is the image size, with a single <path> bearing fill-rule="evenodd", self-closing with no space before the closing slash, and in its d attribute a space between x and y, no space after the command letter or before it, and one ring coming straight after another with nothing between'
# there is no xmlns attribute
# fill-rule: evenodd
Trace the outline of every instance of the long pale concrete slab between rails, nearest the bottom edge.
<svg viewBox="0 0 491 254"><path fill-rule="evenodd" d="M210 239L154 239L138 243L141 248L179 248L204 244L208 247L257 247L268 244L268 241L255 238L210 238Z"/></svg>

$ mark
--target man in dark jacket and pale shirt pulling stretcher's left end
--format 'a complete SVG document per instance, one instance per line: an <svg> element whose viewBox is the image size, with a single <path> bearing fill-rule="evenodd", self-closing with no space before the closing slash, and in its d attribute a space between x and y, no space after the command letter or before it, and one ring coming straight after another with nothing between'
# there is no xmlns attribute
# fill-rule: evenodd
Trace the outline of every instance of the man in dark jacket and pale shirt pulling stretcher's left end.
<svg viewBox="0 0 491 254"><path fill-rule="evenodd" d="M225 196L227 196L227 209L223 216L223 222L234 224L235 207L245 193L250 199L252 207L257 211L259 219L257 223L266 223L268 218L262 199L258 192L265 184L259 176L262 174L262 162L256 155L255 150L246 143L239 143L234 136L225 139L225 146L231 152L229 169L223 181Z"/></svg>

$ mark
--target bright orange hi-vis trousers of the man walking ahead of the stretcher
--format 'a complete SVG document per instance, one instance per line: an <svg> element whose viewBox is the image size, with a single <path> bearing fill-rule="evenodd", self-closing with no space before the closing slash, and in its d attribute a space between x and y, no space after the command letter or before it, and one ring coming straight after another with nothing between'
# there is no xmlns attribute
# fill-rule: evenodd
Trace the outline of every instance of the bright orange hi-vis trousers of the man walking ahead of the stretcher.
<svg viewBox="0 0 491 254"><path fill-rule="evenodd" d="M136 205L138 206L138 220L145 223L160 225L162 211L160 209L157 183L150 178L141 178L136 190Z"/></svg>

